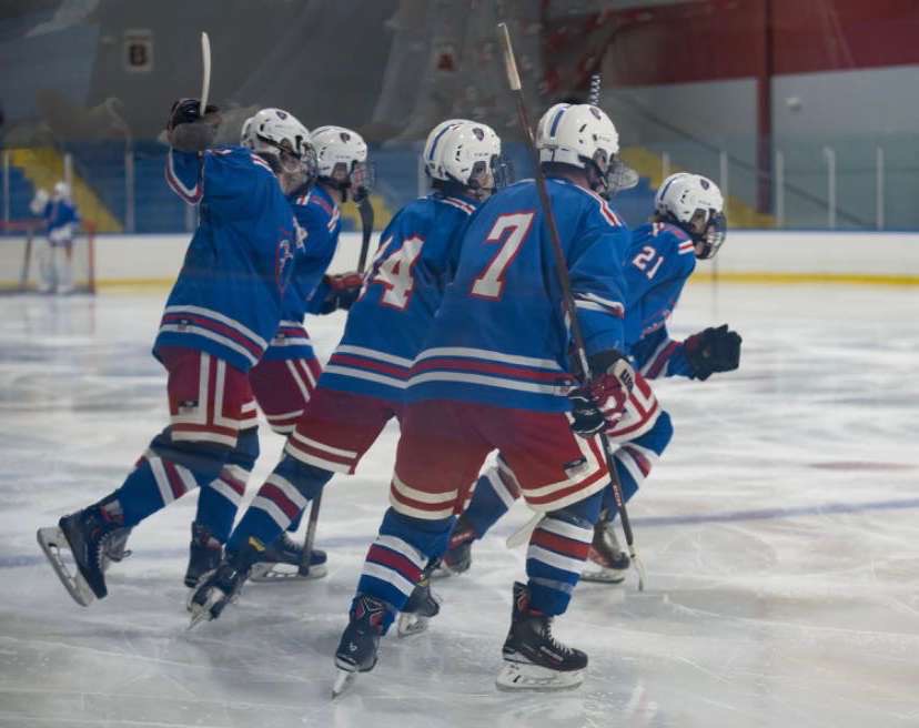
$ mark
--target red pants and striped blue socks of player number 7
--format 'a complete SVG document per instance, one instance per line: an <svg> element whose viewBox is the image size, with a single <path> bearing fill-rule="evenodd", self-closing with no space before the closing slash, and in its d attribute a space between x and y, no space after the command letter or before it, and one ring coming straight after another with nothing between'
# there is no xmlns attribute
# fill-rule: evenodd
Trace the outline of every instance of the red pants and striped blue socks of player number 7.
<svg viewBox="0 0 919 728"><path fill-rule="evenodd" d="M423 401L406 408L391 508L357 585L358 595L391 606L390 620L428 560L445 550L454 514L493 449L514 468L531 507L543 513L526 560L533 607L549 615L567 609L607 482L598 441L575 436L563 413Z"/></svg>

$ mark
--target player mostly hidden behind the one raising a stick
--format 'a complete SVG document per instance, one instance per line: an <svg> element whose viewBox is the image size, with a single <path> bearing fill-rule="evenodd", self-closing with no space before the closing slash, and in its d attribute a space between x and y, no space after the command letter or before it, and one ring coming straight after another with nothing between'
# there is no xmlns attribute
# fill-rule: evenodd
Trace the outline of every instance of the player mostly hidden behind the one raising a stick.
<svg viewBox="0 0 919 728"><path fill-rule="evenodd" d="M270 146L262 130L270 127L277 109L263 109L243 124L242 144L256 153ZM285 112L280 112L285 113ZM358 200L368 194L371 175L367 145L357 132L342 127L321 127L310 135L316 155L317 180L289 194L294 215L306 233L302 255L285 291L282 320L261 361L249 373L255 401L274 432L285 437L293 432L310 401L321 366L310 336L303 326L307 312L331 313L347 307L356 297L362 279L357 274L325 276L335 254L341 232L339 206L351 193ZM192 524L192 542L185 585L195 587L199 579L220 564L223 544L230 537L236 508L249 475L259 456L257 431L253 426L240 433L236 448L210 486L201 489L198 515ZM290 525L296 530L299 519ZM302 547L283 533L261 554L257 568L262 575L316 578L325 575L325 554L311 553L309 569L301 569Z"/></svg>

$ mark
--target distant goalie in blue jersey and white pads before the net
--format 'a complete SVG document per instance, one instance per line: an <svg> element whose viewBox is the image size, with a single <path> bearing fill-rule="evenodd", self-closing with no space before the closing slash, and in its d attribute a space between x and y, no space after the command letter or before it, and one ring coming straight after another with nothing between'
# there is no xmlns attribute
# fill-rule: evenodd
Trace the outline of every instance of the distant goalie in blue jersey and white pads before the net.
<svg viewBox="0 0 919 728"><path fill-rule="evenodd" d="M80 213L70 199L70 185L61 180L52 194L39 188L29 209L44 221L48 244L39 243L39 291L70 293L73 290L73 234L80 225Z"/></svg>

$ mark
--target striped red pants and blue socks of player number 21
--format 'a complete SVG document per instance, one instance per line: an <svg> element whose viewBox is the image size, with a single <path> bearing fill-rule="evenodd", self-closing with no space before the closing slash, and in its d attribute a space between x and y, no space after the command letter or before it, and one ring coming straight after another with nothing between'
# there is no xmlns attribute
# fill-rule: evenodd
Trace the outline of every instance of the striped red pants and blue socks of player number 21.
<svg viewBox="0 0 919 728"><path fill-rule="evenodd" d="M625 415L607 433L610 449L615 448L613 463L626 502L648 477L673 434L670 416L660 408L644 377L636 377ZM513 469L498 457L497 465L488 468L477 479L469 505L465 509L465 520L472 526L476 537L482 538L507 513L519 495ZM612 487L604 489L603 508L608 509L610 514L616 513Z"/></svg>

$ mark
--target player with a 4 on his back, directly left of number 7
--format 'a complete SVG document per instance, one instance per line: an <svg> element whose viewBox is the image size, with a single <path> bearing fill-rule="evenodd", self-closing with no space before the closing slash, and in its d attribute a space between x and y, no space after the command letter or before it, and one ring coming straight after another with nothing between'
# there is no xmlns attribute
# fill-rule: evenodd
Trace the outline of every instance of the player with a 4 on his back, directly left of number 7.
<svg viewBox="0 0 919 728"><path fill-rule="evenodd" d="M473 121L440 124L425 145L433 192L403 208L351 309L345 332L306 411L226 545L220 568L191 599L193 623L213 619L252 564L335 473L354 473L393 417L401 418L412 360L451 279L458 232L495 185L501 141Z"/></svg>

